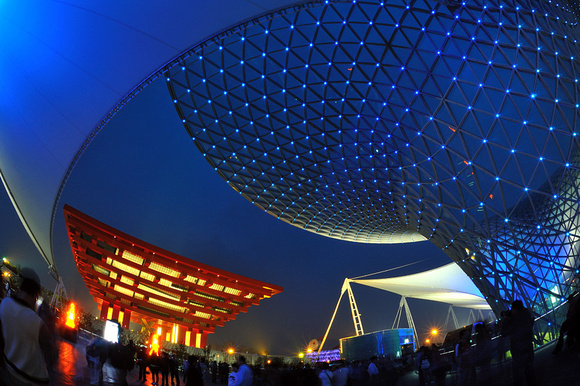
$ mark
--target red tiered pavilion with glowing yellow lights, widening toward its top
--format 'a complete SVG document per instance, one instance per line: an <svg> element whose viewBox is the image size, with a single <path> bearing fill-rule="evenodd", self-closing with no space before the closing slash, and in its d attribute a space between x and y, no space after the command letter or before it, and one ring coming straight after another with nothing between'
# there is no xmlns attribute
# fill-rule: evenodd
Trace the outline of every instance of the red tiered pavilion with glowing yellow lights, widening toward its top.
<svg viewBox="0 0 580 386"><path fill-rule="evenodd" d="M100 319L123 328L133 320L168 342L204 348L216 326L282 292L146 243L69 205L64 214L77 269Z"/></svg>

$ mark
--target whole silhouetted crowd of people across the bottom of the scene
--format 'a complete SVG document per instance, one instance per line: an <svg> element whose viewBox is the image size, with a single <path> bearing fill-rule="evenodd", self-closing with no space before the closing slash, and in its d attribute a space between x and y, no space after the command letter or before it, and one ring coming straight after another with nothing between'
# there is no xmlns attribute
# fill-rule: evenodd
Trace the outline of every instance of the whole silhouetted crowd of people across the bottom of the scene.
<svg viewBox="0 0 580 386"><path fill-rule="evenodd" d="M46 385L54 355L54 326L47 305L37 307L41 291L34 270L22 268L19 288L4 297L0 286L0 386ZM553 354L580 348L580 296L568 297L568 312L561 326ZM37 309L38 308L38 309ZM230 367L225 362L206 363L203 357L187 358L145 347L112 343L95 337L86 346L86 360L92 385L126 385L130 371L138 371L138 381L162 386L374 386L395 385L406 371L419 374L420 385L445 385L454 373L458 386L491 384L492 363L503 363L511 351L512 379L515 385L533 386L534 319L520 300L502 312L493 328L483 322L459 331L451 350L436 345L421 347L409 358L373 356L363 361L334 363L251 366L244 356ZM492 337L496 338L493 340ZM508 344L509 343L509 344Z"/></svg>

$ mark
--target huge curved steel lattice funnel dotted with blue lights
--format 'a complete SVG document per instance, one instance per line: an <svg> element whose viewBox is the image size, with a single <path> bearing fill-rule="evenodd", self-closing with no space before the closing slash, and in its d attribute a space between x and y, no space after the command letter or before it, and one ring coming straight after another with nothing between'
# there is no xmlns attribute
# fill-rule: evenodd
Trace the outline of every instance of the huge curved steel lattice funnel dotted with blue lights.
<svg viewBox="0 0 580 386"><path fill-rule="evenodd" d="M540 339L577 285L575 15L550 2L326 1L241 24L166 78L207 161L273 216L430 240ZM554 301L557 299L557 301Z"/></svg>

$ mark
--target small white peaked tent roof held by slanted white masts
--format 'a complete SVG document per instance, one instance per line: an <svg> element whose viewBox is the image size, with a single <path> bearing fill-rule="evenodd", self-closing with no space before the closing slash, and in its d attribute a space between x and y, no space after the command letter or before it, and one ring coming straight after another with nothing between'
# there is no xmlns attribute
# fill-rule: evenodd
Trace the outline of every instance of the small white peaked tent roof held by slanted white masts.
<svg viewBox="0 0 580 386"><path fill-rule="evenodd" d="M455 263L414 275L350 281L408 298L448 303L457 307L490 308L475 284Z"/></svg>

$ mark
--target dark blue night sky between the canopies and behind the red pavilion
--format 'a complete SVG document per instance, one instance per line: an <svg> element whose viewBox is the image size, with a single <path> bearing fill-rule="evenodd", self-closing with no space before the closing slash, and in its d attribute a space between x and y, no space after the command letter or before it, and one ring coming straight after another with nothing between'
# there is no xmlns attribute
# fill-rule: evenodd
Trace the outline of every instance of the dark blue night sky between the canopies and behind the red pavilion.
<svg viewBox="0 0 580 386"><path fill-rule="evenodd" d="M73 171L55 222L54 253L69 297L97 315L76 271L62 206L69 204L122 232L193 260L284 287L234 321L208 344L227 342L260 354L292 355L322 337L343 280L391 271L399 276L450 262L429 242L355 244L288 225L246 201L219 177L181 125L163 79L124 107L97 135ZM56 282L22 227L6 193L0 196L0 254L37 269L46 287ZM353 285L365 332L391 328L400 297ZM447 306L409 300L419 334L441 325ZM458 310L460 322L468 311ZM402 324L406 327L406 324ZM325 348L354 335L342 300Z"/></svg>

